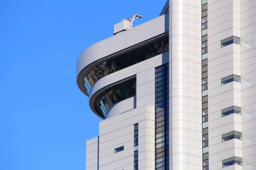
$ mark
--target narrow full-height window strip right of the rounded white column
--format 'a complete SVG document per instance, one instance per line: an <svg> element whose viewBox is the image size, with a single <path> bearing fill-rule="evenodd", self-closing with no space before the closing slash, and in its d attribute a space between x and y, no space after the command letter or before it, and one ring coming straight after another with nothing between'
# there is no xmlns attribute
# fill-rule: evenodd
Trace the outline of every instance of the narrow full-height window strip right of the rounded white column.
<svg viewBox="0 0 256 170"><path fill-rule="evenodd" d="M207 0L202 1L202 129L204 131L202 141L203 170L209 170L208 156L208 39L207 39Z"/></svg>

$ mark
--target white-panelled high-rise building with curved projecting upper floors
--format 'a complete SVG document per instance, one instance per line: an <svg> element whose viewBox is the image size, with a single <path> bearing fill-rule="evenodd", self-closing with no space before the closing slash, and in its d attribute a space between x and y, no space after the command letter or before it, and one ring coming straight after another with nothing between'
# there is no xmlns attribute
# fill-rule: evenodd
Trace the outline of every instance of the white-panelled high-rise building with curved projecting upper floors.
<svg viewBox="0 0 256 170"><path fill-rule="evenodd" d="M86 170L256 170L256 0L168 0L77 61Z"/></svg>

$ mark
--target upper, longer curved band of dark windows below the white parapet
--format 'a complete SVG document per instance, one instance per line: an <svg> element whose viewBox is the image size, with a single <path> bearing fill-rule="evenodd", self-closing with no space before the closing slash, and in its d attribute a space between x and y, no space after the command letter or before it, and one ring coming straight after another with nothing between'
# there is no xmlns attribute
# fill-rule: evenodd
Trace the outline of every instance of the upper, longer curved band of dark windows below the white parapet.
<svg viewBox="0 0 256 170"><path fill-rule="evenodd" d="M93 67L84 77L84 87L89 93L91 86L102 77L111 73L127 68L131 65L150 59L159 54L169 51L169 37L163 37L160 40L151 42L140 48L137 48L128 53L122 54L119 57L109 59L99 65Z"/></svg>

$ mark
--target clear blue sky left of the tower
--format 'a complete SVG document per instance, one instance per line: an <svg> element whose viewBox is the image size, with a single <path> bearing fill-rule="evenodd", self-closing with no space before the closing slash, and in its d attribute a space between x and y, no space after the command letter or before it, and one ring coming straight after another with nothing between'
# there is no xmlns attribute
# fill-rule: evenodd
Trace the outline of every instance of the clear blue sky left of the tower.
<svg viewBox="0 0 256 170"><path fill-rule="evenodd" d="M165 2L0 2L1 170L85 169L86 140L99 135L101 119L76 85L76 60L123 17L142 14L134 25L143 23Z"/></svg>

